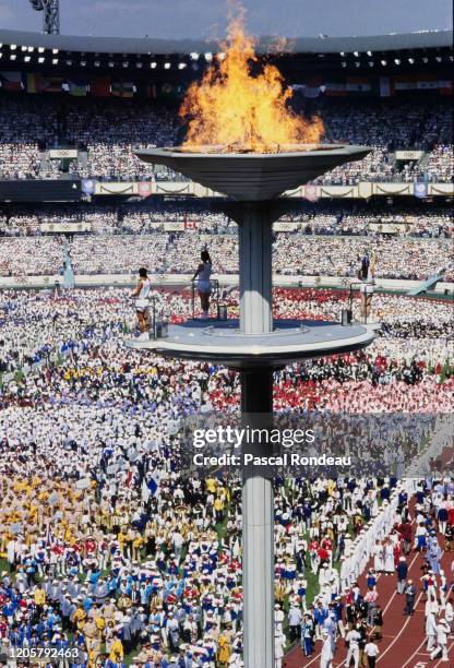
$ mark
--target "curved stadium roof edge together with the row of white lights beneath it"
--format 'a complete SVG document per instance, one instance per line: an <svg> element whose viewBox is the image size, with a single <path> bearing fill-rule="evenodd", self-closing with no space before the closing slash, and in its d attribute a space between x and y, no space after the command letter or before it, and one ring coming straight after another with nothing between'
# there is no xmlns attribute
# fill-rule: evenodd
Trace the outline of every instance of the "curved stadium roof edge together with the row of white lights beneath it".
<svg viewBox="0 0 454 668"><path fill-rule="evenodd" d="M299 37L277 43L275 37L262 37L256 45L260 55L278 59L304 61L306 67L327 69L333 67L353 67L361 69L373 67L383 69L381 56L391 58L393 53L406 52L420 67L430 67L440 58L452 56L453 31L422 31L407 34L351 36L351 37ZM210 61L216 52L223 51L220 41L201 39L160 39L157 37L85 37L75 35L46 35L22 31L0 29L0 47L3 64L12 60L14 64L36 67L50 62L58 67L96 68L138 68L146 67L147 57L153 59L172 58ZM430 53L430 60L426 57ZM55 58L59 55L59 58ZM13 58L11 58L11 56ZM77 59L76 59L77 57ZM205 58L206 57L206 58ZM80 58L80 59L79 59ZM128 58L128 60L126 60ZM371 60L372 58L372 60ZM419 58L419 60L418 60ZM439 60L435 60L438 58ZM445 61L447 62L447 61ZM346 63L346 64L343 64ZM357 64L359 63L359 65ZM394 63L395 64L395 63ZM408 64L399 63L403 67ZM180 72L181 74L181 72Z"/></svg>

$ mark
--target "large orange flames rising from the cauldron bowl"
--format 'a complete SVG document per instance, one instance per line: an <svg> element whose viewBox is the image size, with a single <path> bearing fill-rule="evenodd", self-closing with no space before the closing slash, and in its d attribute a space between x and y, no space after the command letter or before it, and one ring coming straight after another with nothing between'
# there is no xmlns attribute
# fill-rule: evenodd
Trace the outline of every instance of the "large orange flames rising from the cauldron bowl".
<svg viewBox="0 0 454 668"><path fill-rule="evenodd" d="M322 121L289 108L291 88L276 67L260 68L254 47L243 17L232 20L224 59L189 87L181 105L180 116L188 122L183 148L215 145L220 151L276 153L319 144Z"/></svg>

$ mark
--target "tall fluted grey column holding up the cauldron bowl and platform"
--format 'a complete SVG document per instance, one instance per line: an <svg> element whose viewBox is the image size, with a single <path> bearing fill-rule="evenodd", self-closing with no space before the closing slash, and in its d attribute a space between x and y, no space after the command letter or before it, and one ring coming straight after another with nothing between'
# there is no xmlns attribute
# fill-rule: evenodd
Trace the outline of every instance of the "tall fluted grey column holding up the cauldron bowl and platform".
<svg viewBox="0 0 454 668"><path fill-rule="evenodd" d="M240 327L247 334L271 332L271 216L263 204L244 203L237 219ZM250 428L272 426L271 370L241 372L241 414ZM262 455L267 451L266 443L249 443L243 449L243 453ZM274 493L272 479L254 469L244 470L242 482L242 586L244 666L274 668Z"/></svg>

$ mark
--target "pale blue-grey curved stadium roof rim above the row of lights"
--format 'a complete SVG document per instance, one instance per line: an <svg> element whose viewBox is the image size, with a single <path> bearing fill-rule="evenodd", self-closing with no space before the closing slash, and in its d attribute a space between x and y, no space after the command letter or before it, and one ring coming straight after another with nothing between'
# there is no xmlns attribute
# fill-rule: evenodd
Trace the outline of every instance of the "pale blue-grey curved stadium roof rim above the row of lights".
<svg viewBox="0 0 454 668"><path fill-rule="evenodd" d="M0 29L0 44L84 53L184 55L222 50L216 41L200 39L159 39L156 37L80 37L72 35L44 35L22 31ZM452 31L361 36L361 37L300 37L290 39L287 49L292 53L338 53L340 51L396 51L404 49L450 48ZM258 51L276 51L276 39L264 37ZM279 49L280 50L280 49Z"/></svg>

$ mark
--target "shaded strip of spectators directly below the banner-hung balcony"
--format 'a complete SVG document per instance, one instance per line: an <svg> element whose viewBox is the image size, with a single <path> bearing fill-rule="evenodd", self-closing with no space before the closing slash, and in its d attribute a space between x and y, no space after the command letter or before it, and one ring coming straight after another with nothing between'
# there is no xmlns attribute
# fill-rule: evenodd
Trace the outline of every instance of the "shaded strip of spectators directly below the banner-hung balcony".
<svg viewBox="0 0 454 668"><path fill-rule="evenodd" d="M81 224L84 234L150 234L174 225L181 229L211 234L235 232L236 224L223 213L211 210L206 201L176 200L130 202L121 205L80 204L3 205L0 210L0 236L41 234L41 224ZM360 237L434 237L453 234L452 212L444 206L403 208L398 206L361 206L345 202L295 203L279 223L288 231L306 235Z"/></svg>

